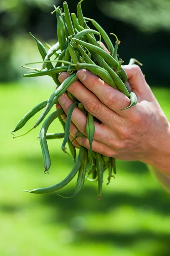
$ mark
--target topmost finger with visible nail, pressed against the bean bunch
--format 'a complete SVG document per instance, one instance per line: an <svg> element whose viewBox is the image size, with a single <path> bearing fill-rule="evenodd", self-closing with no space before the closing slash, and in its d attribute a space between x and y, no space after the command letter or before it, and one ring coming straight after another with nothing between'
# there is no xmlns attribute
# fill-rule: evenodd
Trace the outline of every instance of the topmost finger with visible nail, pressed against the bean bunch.
<svg viewBox="0 0 170 256"><path fill-rule="evenodd" d="M106 84L88 70L77 71L77 77L82 81L85 87L91 90L100 99L100 101L104 103L104 105L119 114L119 116L125 117L130 113L130 109L122 111L123 108L130 105L130 99L127 98L125 94Z"/></svg>

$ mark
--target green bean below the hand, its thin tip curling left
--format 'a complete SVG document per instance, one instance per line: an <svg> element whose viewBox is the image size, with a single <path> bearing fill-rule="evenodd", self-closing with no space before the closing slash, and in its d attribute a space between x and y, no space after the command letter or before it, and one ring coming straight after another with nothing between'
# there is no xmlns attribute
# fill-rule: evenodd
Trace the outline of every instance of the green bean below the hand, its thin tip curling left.
<svg viewBox="0 0 170 256"><path fill-rule="evenodd" d="M77 177L77 184L76 184L76 189L74 191L74 194L69 197L65 197L62 195L59 195L59 196L61 196L62 198L72 198L80 192L80 190L82 189L85 183L85 174L86 174L87 165L88 165L88 154L87 154L87 149L85 148L84 159L82 161L82 166L79 169L79 175Z"/></svg>

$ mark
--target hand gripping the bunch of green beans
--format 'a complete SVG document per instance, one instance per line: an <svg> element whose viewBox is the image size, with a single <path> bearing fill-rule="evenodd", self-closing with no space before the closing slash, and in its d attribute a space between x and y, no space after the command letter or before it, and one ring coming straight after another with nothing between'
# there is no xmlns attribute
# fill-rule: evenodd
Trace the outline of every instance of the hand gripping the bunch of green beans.
<svg viewBox="0 0 170 256"><path fill-rule="evenodd" d="M77 77L80 81L68 88L84 108L102 122L95 122L93 151L120 160L139 160L170 172L170 124L141 69L137 65L124 66L124 69L138 98L138 103L127 110L122 111L130 105L130 99L88 70L79 70ZM68 73L61 73L59 80L62 82L67 76ZM59 98L65 113L72 103L66 93ZM70 130L72 137L78 130L86 135L86 120L78 108L74 110ZM89 148L87 138L79 137L77 142Z"/></svg>

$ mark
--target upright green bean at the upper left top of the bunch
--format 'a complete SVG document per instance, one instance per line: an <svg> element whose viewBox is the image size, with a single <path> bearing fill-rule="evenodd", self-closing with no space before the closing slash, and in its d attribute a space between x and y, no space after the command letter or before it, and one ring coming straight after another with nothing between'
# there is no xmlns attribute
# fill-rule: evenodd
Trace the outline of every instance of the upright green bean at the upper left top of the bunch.
<svg viewBox="0 0 170 256"><path fill-rule="evenodd" d="M65 35L65 26L64 26L64 21L62 20L62 17L59 15L59 7L57 7L57 37L59 41L59 46L61 51L67 48L66 44L66 35Z"/></svg>

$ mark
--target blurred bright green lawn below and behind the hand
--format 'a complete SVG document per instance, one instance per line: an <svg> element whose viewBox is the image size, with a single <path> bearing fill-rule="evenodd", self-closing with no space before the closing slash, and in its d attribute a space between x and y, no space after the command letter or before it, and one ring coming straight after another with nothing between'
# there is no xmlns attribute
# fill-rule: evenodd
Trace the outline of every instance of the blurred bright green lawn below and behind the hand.
<svg viewBox="0 0 170 256"><path fill-rule="evenodd" d="M45 175L39 128L14 140L10 134L52 91L48 84L0 86L0 256L169 256L170 196L142 163L117 161L116 179L109 186L105 174L101 201L96 200L96 183L89 181L72 199L23 192L59 182L74 164L61 151L62 140L51 140L52 165ZM170 120L169 90L153 92ZM62 132L58 120L50 131ZM72 195L75 183L62 195Z"/></svg>

